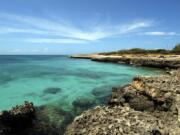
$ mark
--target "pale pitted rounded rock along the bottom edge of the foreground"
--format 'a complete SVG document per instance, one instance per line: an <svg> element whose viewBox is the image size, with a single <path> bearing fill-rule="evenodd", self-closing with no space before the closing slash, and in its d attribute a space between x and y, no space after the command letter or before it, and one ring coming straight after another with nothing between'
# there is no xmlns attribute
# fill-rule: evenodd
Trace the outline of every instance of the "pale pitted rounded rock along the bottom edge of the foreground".
<svg viewBox="0 0 180 135"><path fill-rule="evenodd" d="M76 117L65 135L178 135L174 125L129 107L96 107Z"/></svg>

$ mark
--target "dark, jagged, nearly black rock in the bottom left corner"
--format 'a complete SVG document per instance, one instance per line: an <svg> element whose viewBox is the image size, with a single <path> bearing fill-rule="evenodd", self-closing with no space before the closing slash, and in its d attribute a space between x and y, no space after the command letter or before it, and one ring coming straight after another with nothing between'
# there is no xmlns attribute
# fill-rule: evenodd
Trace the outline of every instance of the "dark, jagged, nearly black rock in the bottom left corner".
<svg viewBox="0 0 180 135"><path fill-rule="evenodd" d="M3 111L0 115L0 132L18 133L33 125L35 119L35 107L30 102L13 107L9 111Z"/></svg>

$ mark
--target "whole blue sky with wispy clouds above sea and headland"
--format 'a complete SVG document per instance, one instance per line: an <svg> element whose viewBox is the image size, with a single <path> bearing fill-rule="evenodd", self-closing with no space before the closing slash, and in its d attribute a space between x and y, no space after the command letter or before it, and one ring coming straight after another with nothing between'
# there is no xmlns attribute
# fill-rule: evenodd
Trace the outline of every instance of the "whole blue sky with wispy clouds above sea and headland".
<svg viewBox="0 0 180 135"><path fill-rule="evenodd" d="M171 49L180 0L0 0L0 54Z"/></svg>

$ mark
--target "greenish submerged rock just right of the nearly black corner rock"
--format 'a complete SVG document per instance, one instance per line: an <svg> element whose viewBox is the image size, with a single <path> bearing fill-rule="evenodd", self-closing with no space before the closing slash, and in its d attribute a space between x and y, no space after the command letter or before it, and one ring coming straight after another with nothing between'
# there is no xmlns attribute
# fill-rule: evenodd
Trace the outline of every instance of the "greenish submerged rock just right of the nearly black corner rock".
<svg viewBox="0 0 180 135"><path fill-rule="evenodd" d="M73 120L70 112L57 106L45 105L36 110L37 118L34 127L28 130L28 135L62 135Z"/></svg>

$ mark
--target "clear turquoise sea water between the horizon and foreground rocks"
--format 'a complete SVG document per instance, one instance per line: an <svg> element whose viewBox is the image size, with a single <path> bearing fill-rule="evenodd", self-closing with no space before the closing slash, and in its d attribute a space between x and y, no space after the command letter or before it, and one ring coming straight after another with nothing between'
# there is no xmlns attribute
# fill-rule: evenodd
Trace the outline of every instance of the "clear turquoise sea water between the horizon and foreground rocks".
<svg viewBox="0 0 180 135"><path fill-rule="evenodd" d="M135 75L162 72L66 56L0 56L0 110L25 100L70 109L75 100L96 100L93 89L108 93L105 89L127 84ZM47 89L58 91L47 93Z"/></svg>

